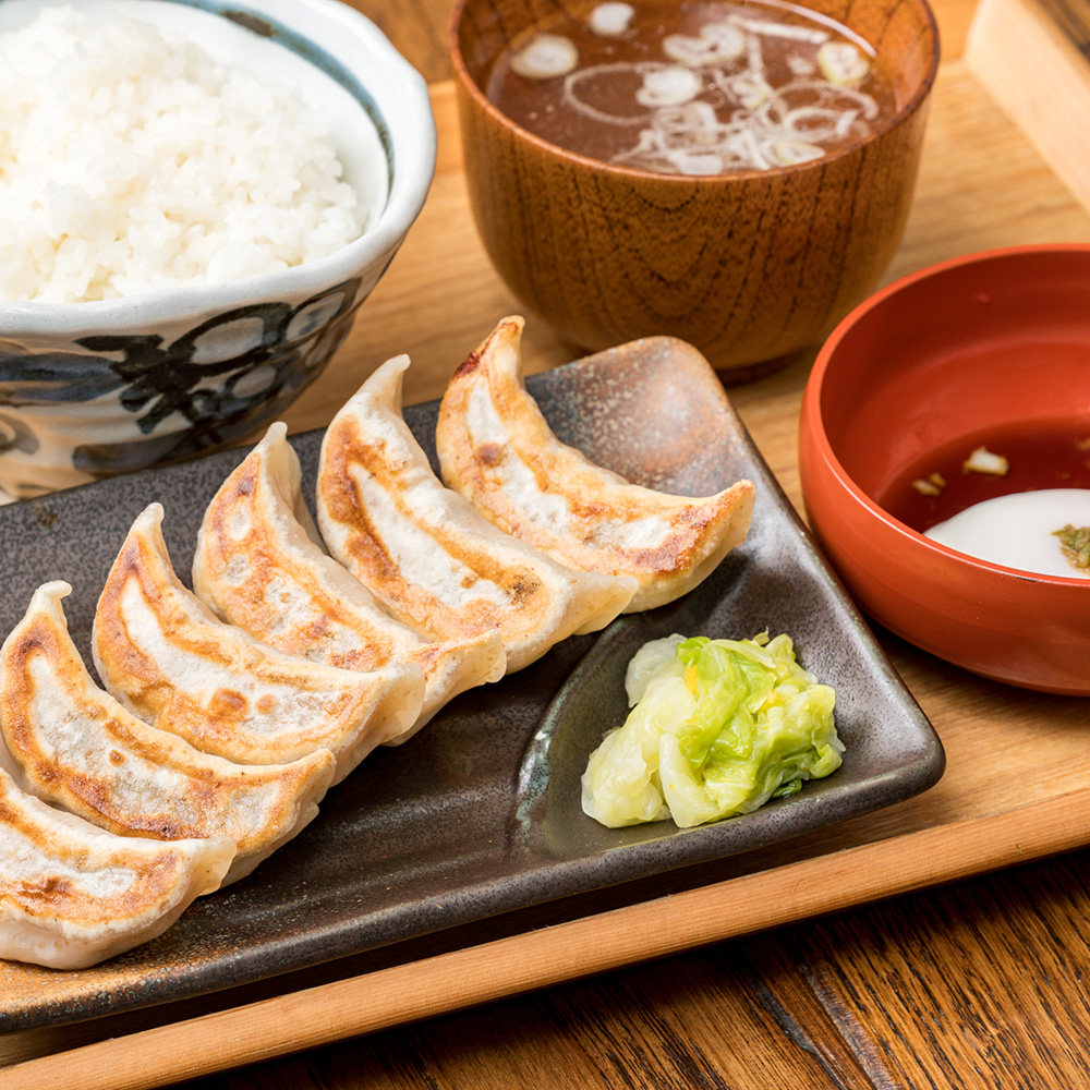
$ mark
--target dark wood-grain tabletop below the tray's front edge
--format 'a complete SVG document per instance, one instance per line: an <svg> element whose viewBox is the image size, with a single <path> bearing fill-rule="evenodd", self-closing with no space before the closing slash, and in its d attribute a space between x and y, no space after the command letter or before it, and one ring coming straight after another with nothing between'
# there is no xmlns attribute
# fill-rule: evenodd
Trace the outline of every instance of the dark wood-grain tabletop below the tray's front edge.
<svg viewBox="0 0 1090 1090"><path fill-rule="evenodd" d="M201 1086L1082 1087L1088 863L1080 852Z"/></svg>

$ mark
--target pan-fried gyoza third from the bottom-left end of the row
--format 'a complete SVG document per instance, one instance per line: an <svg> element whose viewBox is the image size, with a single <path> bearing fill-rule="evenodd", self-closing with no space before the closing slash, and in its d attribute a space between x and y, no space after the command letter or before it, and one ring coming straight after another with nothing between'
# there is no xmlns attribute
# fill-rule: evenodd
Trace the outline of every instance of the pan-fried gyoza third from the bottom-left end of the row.
<svg viewBox="0 0 1090 1090"><path fill-rule="evenodd" d="M334 783L412 727L424 699L419 666L341 670L225 625L178 579L161 521L152 504L133 523L95 614L98 675L130 712L241 764L331 750Z"/></svg>

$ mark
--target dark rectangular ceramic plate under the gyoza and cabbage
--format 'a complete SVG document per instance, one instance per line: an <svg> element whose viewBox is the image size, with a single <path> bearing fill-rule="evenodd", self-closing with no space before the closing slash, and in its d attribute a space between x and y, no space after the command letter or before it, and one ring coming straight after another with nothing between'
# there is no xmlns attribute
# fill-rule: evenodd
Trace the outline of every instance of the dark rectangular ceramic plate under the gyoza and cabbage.
<svg viewBox="0 0 1090 1090"><path fill-rule="evenodd" d="M678 602L554 647L518 675L450 703L421 734L371 756L318 818L250 877L197 901L160 938L77 973L41 970L11 986L0 962L0 1028L61 1024L184 1000L559 898L722 860L897 802L942 775L931 724L816 553L714 374L678 342L638 342L528 384L558 435L592 459L666 491L706 495L739 477L758 488L753 525ZM429 453L436 404L405 417ZM293 443L313 482L320 433ZM187 579L205 506L244 451L87 485L0 509L0 630L34 589L65 579L86 653L95 603L132 520L166 508ZM796 641L837 693L843 767L756 813L679 831L607 829L586 818L579 776L626 713L623 671L644 640ZM89 657L88 657L89 662ZM5 982L5 974L8 982ZM48 981L47 981L48 976Z"/></svg>

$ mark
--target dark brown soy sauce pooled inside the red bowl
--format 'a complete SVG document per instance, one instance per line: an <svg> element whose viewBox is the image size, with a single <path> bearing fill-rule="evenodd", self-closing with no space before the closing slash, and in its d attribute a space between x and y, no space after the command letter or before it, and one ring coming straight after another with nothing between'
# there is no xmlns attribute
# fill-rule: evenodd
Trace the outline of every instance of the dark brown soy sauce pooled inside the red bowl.
<svg viewBox="0 0 1090 1090"><path fill-rule="evenodd" d="M1007 472L966 472L978 447L1005 458ZM938 494L922 495L913 482L934 475L944 482ZM1044 488L1090 488L1090 420L1012 422L953 439L908 465L873 499L923 533L985 499Z"/></svg>

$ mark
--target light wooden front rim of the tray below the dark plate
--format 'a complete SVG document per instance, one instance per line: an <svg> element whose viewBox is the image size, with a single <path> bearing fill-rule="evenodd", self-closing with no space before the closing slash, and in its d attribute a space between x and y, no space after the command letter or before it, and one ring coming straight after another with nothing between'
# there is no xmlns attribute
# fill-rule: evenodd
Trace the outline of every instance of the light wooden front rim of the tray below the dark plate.
<svg viewBox="0 0 1090 1090"><path fill-rule="evenodd" d="M0 1090L142 1090L198 1078L1087 843L1090 789L109 1038L0 1070Z"/></svg>

